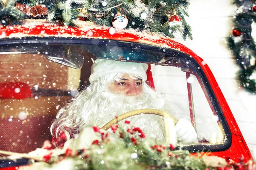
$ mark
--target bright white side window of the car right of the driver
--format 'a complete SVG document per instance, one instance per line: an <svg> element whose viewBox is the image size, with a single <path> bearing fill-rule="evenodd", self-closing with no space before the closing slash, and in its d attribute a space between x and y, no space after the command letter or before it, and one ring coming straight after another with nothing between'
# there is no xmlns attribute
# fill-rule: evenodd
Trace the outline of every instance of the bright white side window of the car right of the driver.
<svg viewBox="0 0 256 170"><path fill-rule="evenodd" d="M222 126L219 125L218 116L211 108L211 101L207 101L208 94L204 94L202 82L198 82L201 80L177 67L157 65L153 70L156 90L169 97L171 114L177 119L191 121L197 131L199 142L222 142Z"/></svg>

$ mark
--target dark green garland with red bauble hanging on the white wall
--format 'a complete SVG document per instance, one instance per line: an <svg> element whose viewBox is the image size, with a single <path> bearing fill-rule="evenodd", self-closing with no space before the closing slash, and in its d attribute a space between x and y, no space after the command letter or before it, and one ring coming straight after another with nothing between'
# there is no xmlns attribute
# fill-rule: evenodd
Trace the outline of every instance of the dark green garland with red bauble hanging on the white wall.
<svg viewBox="0 0 256 170"><path fill-rule="evenodd" d="M234 0L233 3L238 9L233 35L227 41L240 68L236 79L246 91L256 94L256 45L251 36L252 23L256 22L256 0Z"/></svg>

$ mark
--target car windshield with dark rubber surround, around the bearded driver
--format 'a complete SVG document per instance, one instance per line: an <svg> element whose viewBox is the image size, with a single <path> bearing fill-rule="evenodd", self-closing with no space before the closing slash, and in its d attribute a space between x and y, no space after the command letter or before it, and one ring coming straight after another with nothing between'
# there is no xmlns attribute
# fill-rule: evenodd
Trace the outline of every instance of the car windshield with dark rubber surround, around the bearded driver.
<svg viewBox="0 0 256 170"><path fill-rule="evenodd" d="M17 40L0 48L0 150L27 153L51 140L52 121L90 85L91 66L97 58L151 67L153 79L148 85L166 97L170 115L188 120L197 133L198 142L178 144L179 148L196 152L230 146L227 122L208 80L191 56L131 42L45 41L21 44Z"/></svg>

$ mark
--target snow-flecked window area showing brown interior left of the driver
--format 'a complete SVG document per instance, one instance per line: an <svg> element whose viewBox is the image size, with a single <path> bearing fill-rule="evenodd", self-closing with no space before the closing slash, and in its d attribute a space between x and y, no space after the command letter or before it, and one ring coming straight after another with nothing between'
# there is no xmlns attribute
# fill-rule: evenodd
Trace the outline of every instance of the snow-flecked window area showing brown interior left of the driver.
<svg viewBox="0 0 256 170"><path fill-rule="evenodd" d="M0 150L27 153L51 140L50 124L78 93L80 70L41 54L2 54L0 61Z"/></svg>

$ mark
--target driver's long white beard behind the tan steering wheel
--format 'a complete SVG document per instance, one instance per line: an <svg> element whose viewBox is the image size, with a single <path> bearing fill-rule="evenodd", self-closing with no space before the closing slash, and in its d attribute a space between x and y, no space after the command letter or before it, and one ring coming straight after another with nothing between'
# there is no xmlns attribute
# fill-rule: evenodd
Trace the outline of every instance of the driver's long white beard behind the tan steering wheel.
<svg viewBox="0 0 256 170"><path fill-rule="evenodd" d="M152 95L153 93L154 95ZM150 93L141 93L137 96L125 96L113 94L111 92L102 92L99 97L96 97L97 111L91 112L91 115L86 115L84 119L85 126L102 127L109 121L123 113L139 110L139 109L157 109L169 112L166 109L165 100L160 96L156 96L152 90ZM95 103L91 101L91 103ZM86 114L86 112L84 112ZM170 112L169 112L170 113ZM146 138L155 139L157 142L165 140L165 127L163 118L158 115L138 115L127 118L131 121L131 125L140 127L145 133Z"/></svg>

